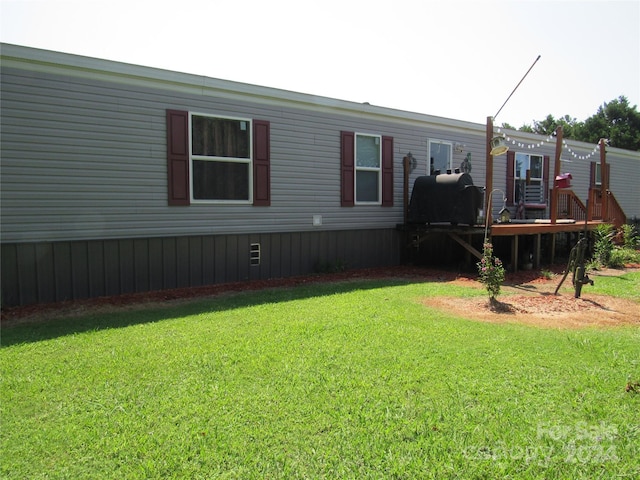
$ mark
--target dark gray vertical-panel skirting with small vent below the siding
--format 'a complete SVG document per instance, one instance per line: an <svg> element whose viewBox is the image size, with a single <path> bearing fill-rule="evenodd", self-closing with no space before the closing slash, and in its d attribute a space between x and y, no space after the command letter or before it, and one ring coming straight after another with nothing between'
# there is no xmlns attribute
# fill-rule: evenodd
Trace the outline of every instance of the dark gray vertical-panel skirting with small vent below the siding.
<svg viewBox="0 0 640 480"><path fill-rule="evenodd" d="M2 306L397 265L397 231L2 244Z"/></svg>

